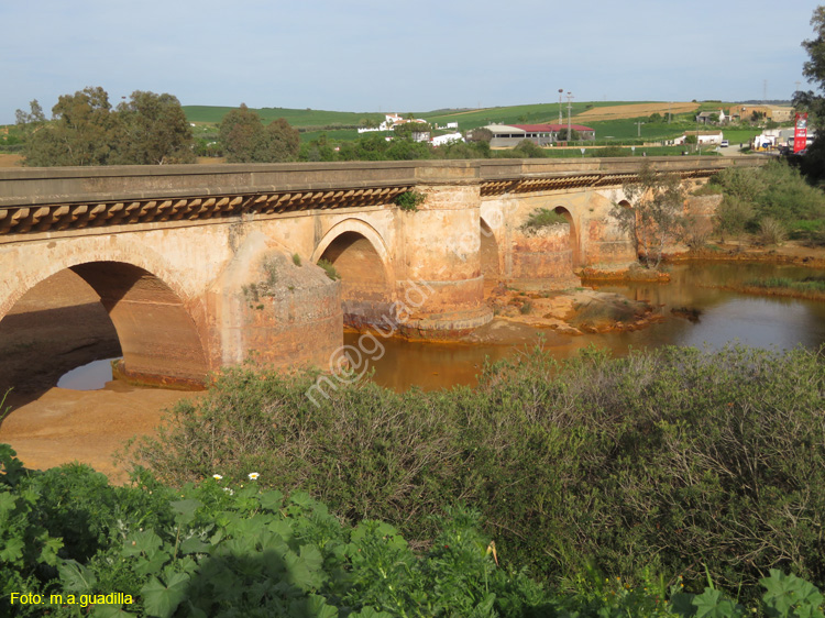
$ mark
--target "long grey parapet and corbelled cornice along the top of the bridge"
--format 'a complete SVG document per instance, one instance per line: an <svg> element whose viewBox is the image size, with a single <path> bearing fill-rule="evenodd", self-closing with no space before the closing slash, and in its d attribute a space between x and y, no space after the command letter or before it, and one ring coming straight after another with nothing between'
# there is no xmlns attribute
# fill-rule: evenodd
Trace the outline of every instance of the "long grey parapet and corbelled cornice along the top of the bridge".
<svg viewBox="0 0 825 618"><path fill-rule="evenodd" d="M642 163L703 178L760 159L632 157L228 164L8 169L0 242L33 232L393 203L418 185L481 185L481 195L620 186Z"/></svg>

